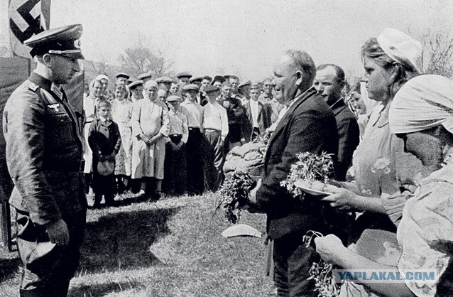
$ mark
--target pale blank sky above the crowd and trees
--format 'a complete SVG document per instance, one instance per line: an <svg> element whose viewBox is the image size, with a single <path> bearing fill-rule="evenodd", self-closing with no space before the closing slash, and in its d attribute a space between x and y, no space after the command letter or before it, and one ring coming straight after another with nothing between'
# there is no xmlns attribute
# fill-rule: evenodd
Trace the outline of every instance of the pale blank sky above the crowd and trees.
<svg viewBox="0 0 453 297"><path fill-rule="evenodd" d="M1 0L7 1L7 0ZM317 65L361 73L359 51L391 26L420 38L452 33L453 1L442 0L54 0L50 26L82 23L87 59L119 64L138 38L165 50L175 72L270 76L275 56L304 49Z"/></svg>

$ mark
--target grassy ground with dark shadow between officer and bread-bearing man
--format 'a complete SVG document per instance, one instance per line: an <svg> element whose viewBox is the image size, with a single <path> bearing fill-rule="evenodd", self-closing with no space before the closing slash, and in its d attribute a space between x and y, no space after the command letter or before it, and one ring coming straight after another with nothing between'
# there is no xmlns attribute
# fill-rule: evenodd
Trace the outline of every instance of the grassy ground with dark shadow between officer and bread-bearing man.
<svg viewBox="0 0 453 297"><path fill-rule="evenodd" d="M276 296L264 276L263 239L225 239L218 196L120 201L89 210L82 260L69 296ZM241 223L263 232L264 215ZM0 253L0 296L17 296L17 253Z"/></svg>

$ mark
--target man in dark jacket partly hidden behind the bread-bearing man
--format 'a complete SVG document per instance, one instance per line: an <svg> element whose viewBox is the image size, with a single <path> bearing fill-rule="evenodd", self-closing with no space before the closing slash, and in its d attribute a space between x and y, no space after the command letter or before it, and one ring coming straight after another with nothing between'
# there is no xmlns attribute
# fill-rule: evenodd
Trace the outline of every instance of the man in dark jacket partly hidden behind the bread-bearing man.
<svg viewBox="0 0 453 297"><path fill-rule="evenodd" d="M346 106L342 90L346 81L344 71L334 64L318 66L314 86L334 112L338 130L338 180L345 180L352 163L352 154L360 141L359 124L349 107Z"/></svg>

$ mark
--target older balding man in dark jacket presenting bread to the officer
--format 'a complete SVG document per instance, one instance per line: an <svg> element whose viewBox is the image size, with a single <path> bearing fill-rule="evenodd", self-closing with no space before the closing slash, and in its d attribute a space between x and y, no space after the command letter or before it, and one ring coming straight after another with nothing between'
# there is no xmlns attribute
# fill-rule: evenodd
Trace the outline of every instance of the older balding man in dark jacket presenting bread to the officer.
<svg viewBox="0 0 453 297"><path fill-rule="evenodd" d="M313 249L302 244L308 230L326 230L324 207L319 198L293 198L280 182L287 178L300 152L337 153L334 114L310 89L315 63L303 51L288 50L274 65L272 84L285 112L268 143L262 180L251 190L249 207L266 212L268 237L273 239L274 282L278 296L317 296L308 280L312 263L319 261Z"/></svg>

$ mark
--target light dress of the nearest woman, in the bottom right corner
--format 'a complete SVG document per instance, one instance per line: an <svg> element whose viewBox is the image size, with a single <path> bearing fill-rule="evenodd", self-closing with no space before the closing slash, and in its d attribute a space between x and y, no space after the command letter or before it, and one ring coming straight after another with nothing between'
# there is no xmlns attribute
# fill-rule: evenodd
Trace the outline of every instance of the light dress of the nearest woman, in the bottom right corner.
<svg viewBox="0 0 453 297"><path fill-rule="evenodd" d="M416 296L435 296L437 280L447 269L452 252L448 250L453 242L452 163L422 180L404 206L397 238L403 249L400 271L436 271L436 284L415 280L406 280L405 284Z"/></svg>

